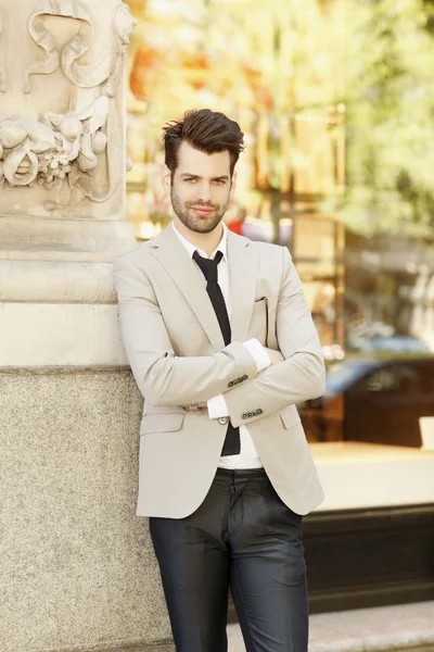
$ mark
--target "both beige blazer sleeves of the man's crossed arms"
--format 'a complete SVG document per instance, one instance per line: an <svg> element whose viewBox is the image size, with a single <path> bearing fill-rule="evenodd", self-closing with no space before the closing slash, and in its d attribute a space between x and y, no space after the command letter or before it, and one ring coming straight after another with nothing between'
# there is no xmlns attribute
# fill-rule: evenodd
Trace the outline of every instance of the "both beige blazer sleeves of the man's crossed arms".
<svg viewBox="0 0 434 652"><path fill-rule="evenodd" d="M257 372L242 342L213 355L175 356L153 287L128 259L115 263L123 340L139 389L154 405L203 403L224 394L233 426L261 418L284 406L321 396L324 365L318 335L288 249L277 305L277 340L282 362ZM229 384L242 376L247 380ZM242 415L260 408L260 416Z"/></svg>

